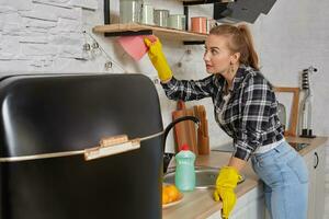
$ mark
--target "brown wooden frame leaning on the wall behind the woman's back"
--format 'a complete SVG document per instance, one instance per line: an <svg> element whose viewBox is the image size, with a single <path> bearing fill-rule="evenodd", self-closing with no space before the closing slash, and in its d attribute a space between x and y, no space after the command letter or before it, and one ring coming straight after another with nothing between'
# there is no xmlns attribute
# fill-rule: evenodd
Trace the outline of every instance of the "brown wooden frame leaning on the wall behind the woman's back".
<svg viewBox="0 0 329 219"><path fill-rule="evenodd" d="M274 92L293 93L293 103L291 110L291 120L288 128L284 131L285 136L296 136L299 108L299 88L275 87Z"/></svg>

